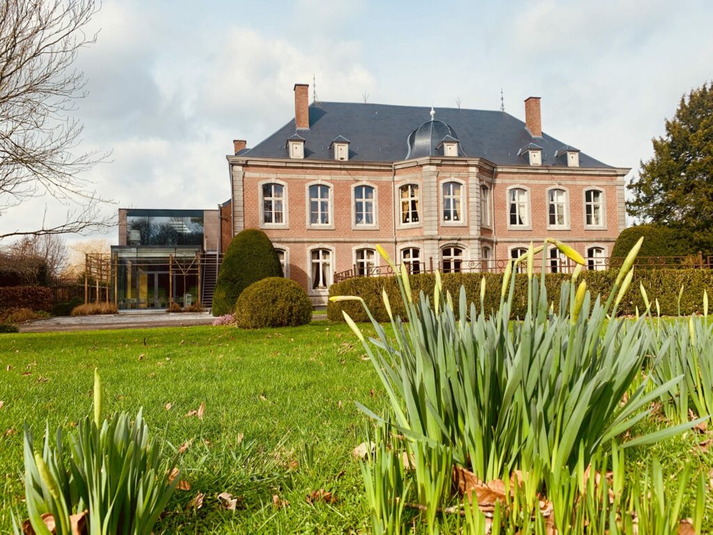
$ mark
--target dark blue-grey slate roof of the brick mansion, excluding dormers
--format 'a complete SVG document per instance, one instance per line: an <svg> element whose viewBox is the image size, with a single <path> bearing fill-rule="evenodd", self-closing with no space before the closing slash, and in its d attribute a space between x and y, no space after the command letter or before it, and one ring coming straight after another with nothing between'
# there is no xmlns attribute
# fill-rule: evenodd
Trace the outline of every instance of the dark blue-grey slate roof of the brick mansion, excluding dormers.
<svg viewBox="0 0 713 535"><path fill-rule="evenodd" d="M309 106L309 129L295 129L294 118L254 148L240 151L252 158L289 158L285 141L299 133L305 140L304 158L332 160L329 150L338 136L349 139L349 160L361 162L394 162L406 160L413 147L416 131L430 121L431 108L425 106L391 106L319 102ZM567 165L557 154L567 146L552 136L530 136L525 123L504 111L437 108L436 121L446 123L450 133L457 132L458 155L485 158L496 165L527 165L518 150L528 143L542 147L543 165ZM421 129L423 130L423 129ZM450 135L449 132L445 132ZM443 136L441 136L443 138ZM441 141L438 138L438 141ZM433 146L435 148L435 145ZM416 151L416 156L428 156ZM580 153L580 166L607 168L585 153Z"/></svg>

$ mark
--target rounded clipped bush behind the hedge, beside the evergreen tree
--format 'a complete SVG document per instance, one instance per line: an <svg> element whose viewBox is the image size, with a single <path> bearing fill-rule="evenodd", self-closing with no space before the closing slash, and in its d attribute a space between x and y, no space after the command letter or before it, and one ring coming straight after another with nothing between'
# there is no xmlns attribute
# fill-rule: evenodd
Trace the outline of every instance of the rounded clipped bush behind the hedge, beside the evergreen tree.
<svg viewBox="0 0 713 535"><path fill-rule="evenodd" d="M684 256L693 253L682 233L662 225L635 225L625 228L612 248L612 258L623 258L639 238L644 237L639 258L650 256Z"/></svg>

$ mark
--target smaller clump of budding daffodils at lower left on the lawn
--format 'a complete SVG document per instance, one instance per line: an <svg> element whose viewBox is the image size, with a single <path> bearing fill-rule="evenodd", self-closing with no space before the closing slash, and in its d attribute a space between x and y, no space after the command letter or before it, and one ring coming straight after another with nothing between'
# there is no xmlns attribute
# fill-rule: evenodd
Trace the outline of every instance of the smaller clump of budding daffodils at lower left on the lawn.
<svg viewBox="0 0 713 535"><path fill-rule="evenodd" d="M84 417L68 440L61 428L56 434L47 429L36 447L25 427L29 519L22 526L13 519L15 533L150 535L180 482L180 471L174 468L176 457L166 456L148 434L141 409L135 417L127 412L103 417L95 371L93 418ZM48 521L56 526L53 531Z"/></svg>

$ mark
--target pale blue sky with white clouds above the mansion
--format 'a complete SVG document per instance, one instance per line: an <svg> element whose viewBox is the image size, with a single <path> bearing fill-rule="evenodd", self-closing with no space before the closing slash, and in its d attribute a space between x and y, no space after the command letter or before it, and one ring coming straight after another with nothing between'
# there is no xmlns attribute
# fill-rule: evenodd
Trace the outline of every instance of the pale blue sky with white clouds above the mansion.
<svg viewBox="0 0 713 535"><path fill-rule="evenodd" d="M215 208L232 140L289 121L313 75L322 101L497 109L503 88L523 118L541 96L543 130L633 173L682 93L713 78L712 19L707 0L104 0L76 114L83 148L113 151L89 173L109 212ZM45 206L62 219L42 198L1 230L36 227Z"/></svg>

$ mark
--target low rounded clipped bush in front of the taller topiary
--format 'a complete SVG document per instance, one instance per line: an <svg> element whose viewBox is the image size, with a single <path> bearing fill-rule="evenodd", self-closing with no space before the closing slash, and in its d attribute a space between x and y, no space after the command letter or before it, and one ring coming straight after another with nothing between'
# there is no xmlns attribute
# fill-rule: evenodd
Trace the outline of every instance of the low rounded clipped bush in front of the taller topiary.
<svg viewBox="0 0 713 535"><path fill-rule="evenodd" d="M239 327L294 327L312 320L312 303L294 280L269 277L251 284L237 298Z"/></svg>

